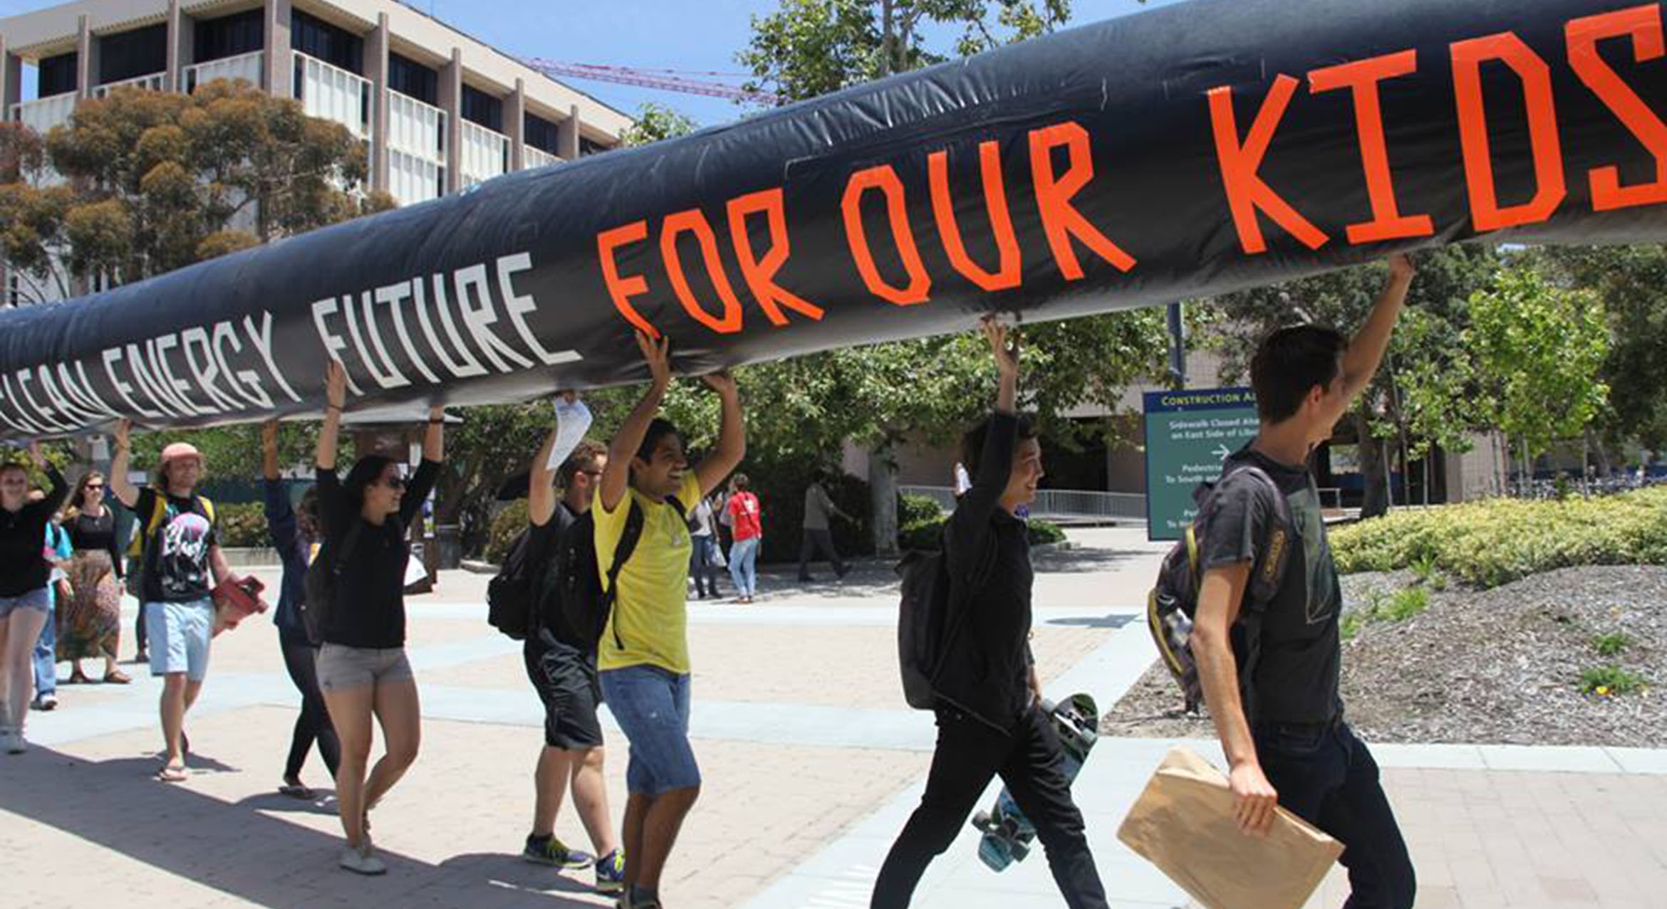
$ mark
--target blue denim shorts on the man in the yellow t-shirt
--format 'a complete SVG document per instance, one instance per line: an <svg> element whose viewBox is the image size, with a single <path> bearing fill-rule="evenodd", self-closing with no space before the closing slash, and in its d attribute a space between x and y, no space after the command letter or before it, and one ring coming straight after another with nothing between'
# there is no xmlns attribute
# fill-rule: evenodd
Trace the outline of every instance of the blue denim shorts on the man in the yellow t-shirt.
<svg viewBox="0 0 1667 909"><path fill-rule="evenodd" d="M688 744L688 676L658 666L602 673L602 699L630 743L625 791L658 796L700 786Z"/></svg>

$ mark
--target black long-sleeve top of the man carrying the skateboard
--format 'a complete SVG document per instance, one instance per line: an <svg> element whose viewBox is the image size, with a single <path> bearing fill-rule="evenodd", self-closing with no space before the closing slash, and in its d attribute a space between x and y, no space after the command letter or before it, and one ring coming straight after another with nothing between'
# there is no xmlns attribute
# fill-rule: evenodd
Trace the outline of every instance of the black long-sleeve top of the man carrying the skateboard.
<svg viewBox="0 0 1667 909"><path fill-rule="evenodd" d="M1030 536L1002 508L1017 435L1017 416L990 418L979 474L949 519L950 624L960 629L934 683L945 703L1002 733L1030 704Z"/></svg>

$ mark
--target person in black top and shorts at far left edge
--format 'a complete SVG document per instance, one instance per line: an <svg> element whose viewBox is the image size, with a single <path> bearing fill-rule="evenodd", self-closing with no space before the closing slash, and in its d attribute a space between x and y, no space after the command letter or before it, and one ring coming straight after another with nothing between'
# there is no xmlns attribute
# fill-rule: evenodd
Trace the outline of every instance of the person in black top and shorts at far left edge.
<svg viewBox="0 0 1667 909"><path fill-rule="evenodd" d="M47 523L63 503L68 483L40 454L40 443L28 445L28 458L45 471L52 491L28 501L28 469L18 463L0 466L0 749L22 754L23 719L28 716L35 673L35 641L52 621L47 579L52 563L42 556Z"/></svg>

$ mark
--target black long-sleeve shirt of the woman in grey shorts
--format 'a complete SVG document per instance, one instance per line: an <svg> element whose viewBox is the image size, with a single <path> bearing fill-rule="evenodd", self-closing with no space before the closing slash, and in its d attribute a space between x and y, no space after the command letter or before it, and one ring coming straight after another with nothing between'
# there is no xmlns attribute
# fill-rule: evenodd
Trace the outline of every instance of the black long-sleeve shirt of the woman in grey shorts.
<svg viewBox="0 0 1667 909"><path fill-rule="evenodd" d="M400 528L410 528L423 499L440 478L440 463L425 459L400 499ZM372 524L360 514L360 503L342 488L335 469L318 468L318 508L323 514L330 558L337 558L355 521L358 539L347 554L347 566L330 593L330 621L323 629L328 644L347 648L405 646L405 559L410 549L393 521Z"/></svg>

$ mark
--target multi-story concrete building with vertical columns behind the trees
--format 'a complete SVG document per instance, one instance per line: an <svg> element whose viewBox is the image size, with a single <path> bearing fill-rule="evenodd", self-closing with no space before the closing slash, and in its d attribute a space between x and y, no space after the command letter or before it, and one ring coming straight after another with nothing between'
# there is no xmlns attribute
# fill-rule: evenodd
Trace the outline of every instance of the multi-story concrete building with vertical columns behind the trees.
<svg viewBox="0 0 1667 909"><path fill-rule="evenodd" d="M0 18L5 117L243 78L367 143L400 205L618 145L630 117L395 0L82 0ZM23 67L35 97L23 97Z"/></svg>

